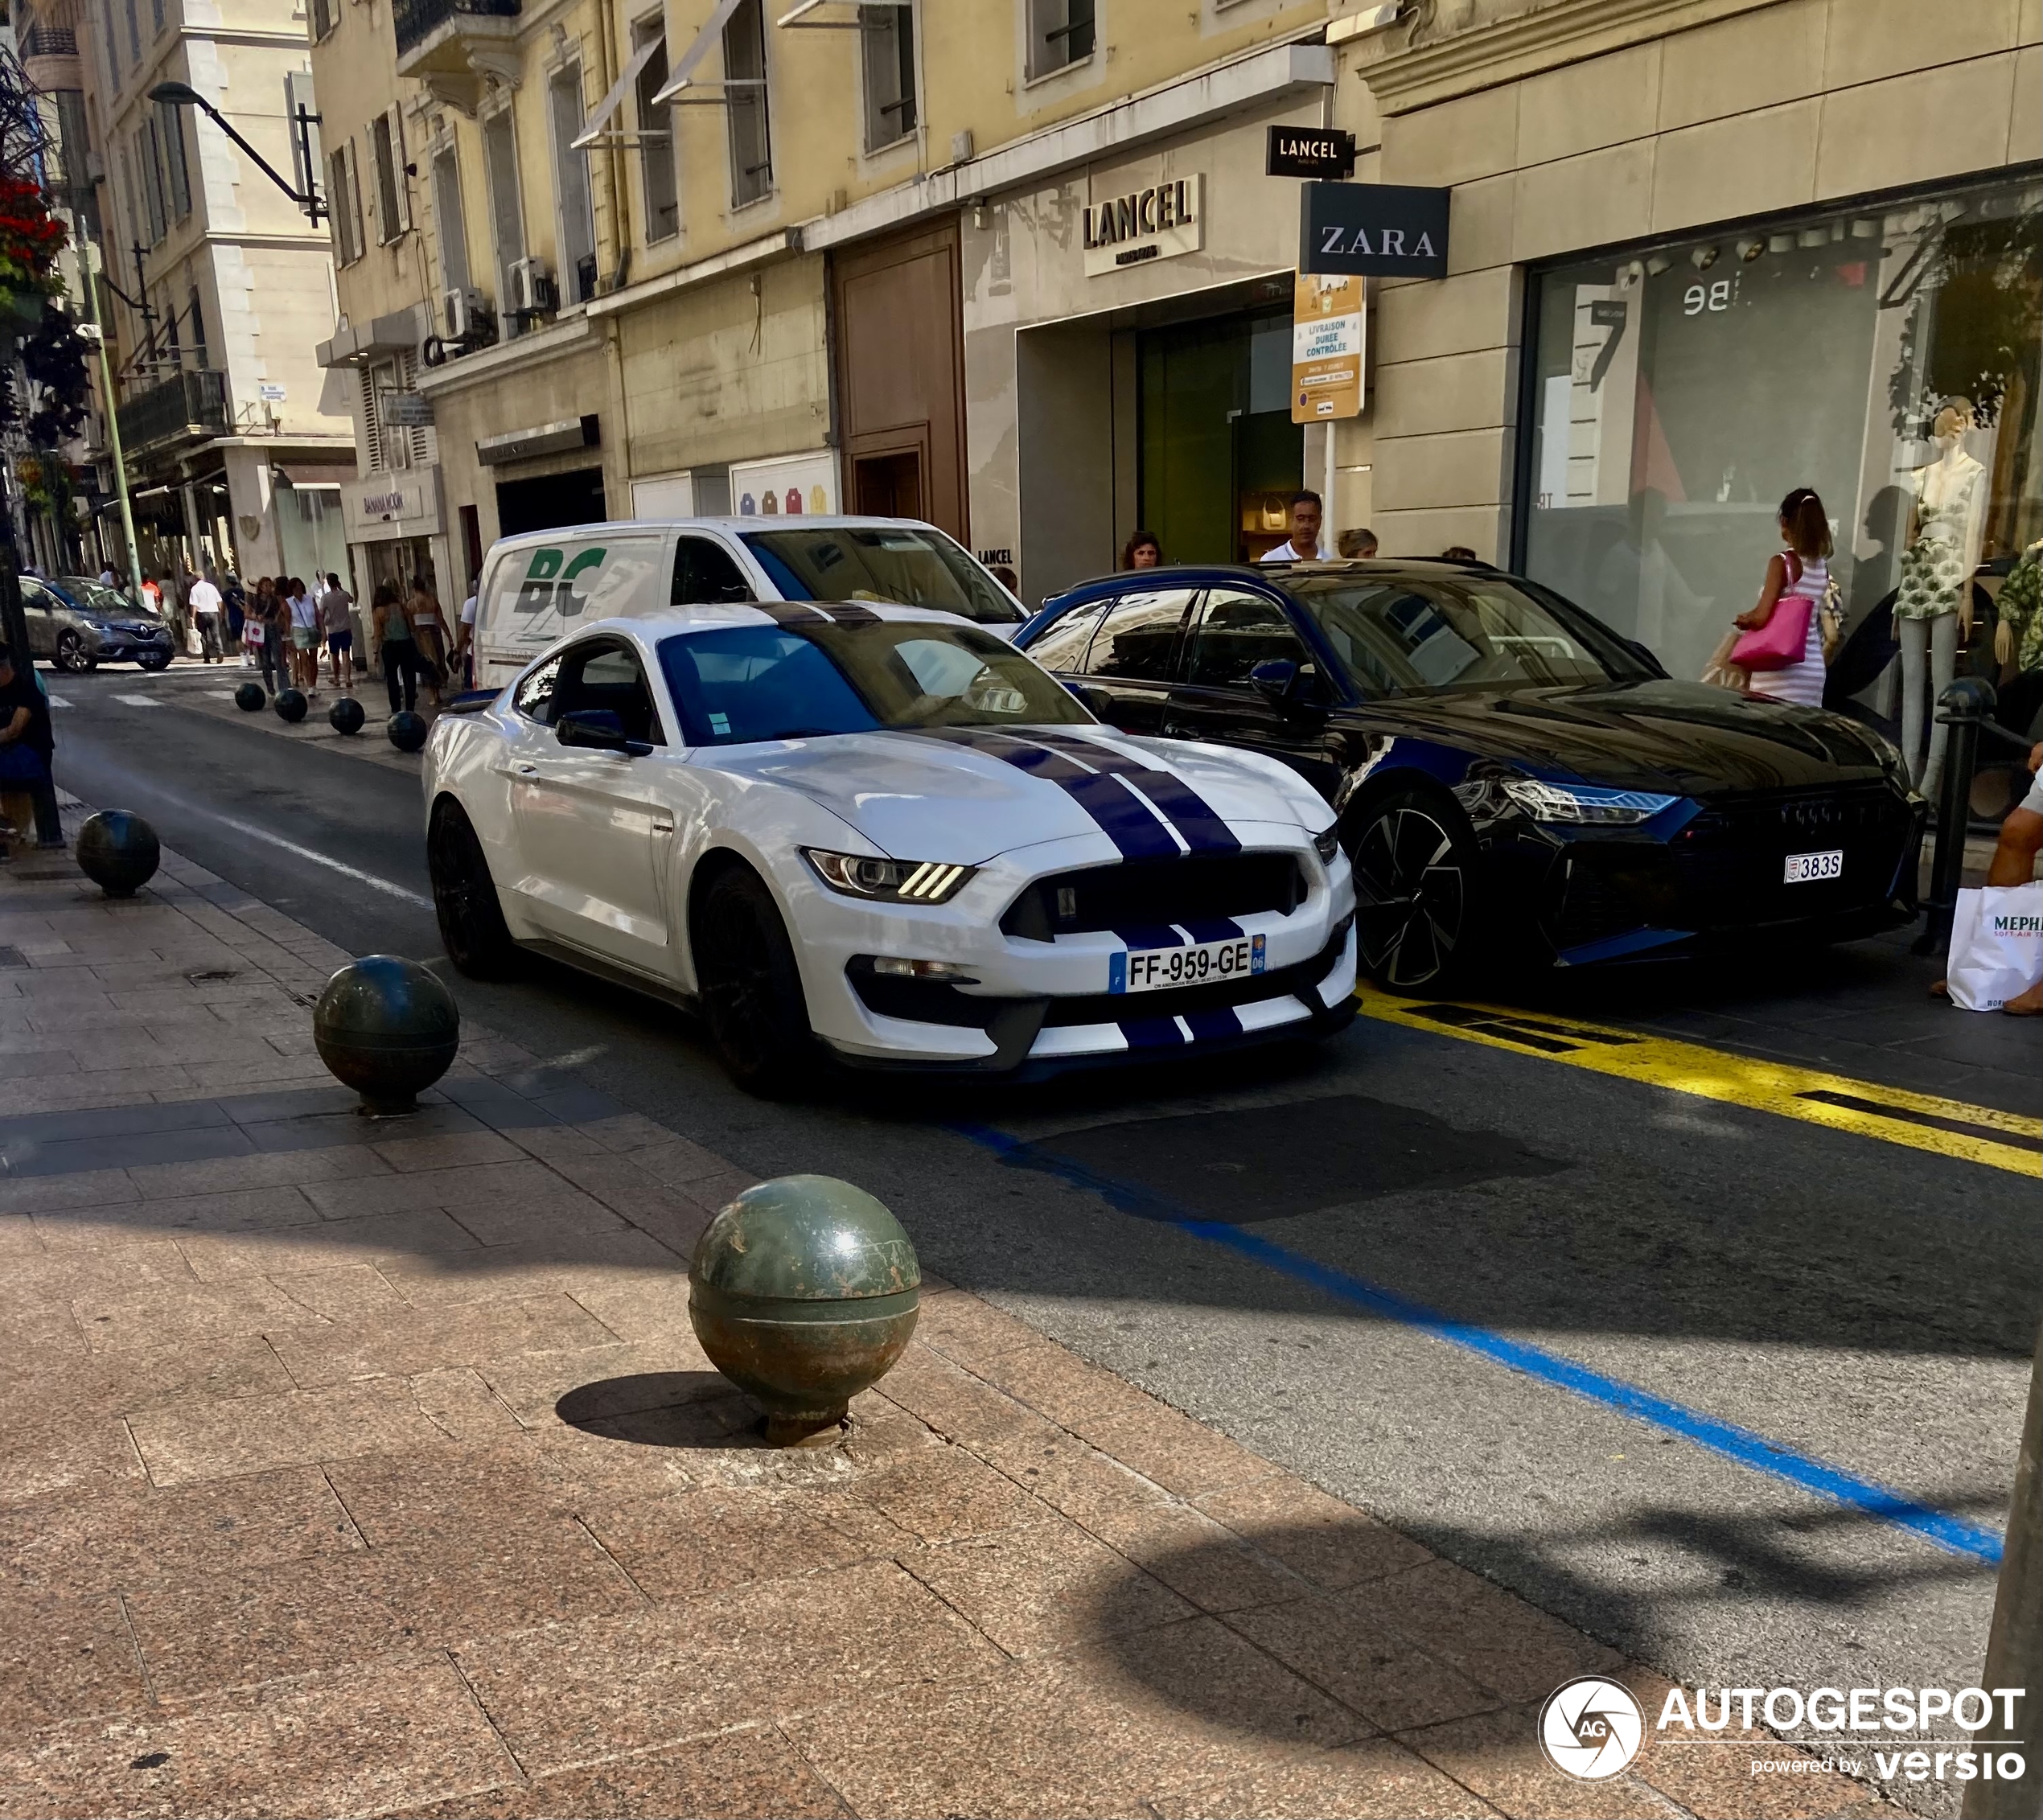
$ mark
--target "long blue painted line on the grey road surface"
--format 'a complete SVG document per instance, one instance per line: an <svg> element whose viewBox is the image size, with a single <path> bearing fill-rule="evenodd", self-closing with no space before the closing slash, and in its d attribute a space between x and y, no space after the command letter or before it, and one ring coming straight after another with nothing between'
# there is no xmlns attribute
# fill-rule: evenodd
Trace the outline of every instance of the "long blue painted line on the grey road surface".
<svg viewBox="0 0 2043 1820"><path fill-rule="evenodd" d="M1939 1548L1947 1548L1953 1554L1984 1561L1988 1567L2000 1565L2002 1538L1998 1530L1969 1524L1963 1518L1933 1510L1927 1503L1916 1503L1912 1497L1902 1497L1902 1493L1890 1491L1884 1485L1857 1479L1851 1473L1839 1471L1837 1467L1767 1440L1763 1434L1739 1428L1735 1422L1720 1422L1714 1416L1704 1416L1700 1409L1690 1409L1681 1403L1669 1403L1665 1397L1655 1397L1651 1391L1643 1391L1636 1385L1604 1377L1600 1371L1575 1364L1559 1352L1549 1352L1542 1346L1528 1346L1522 1340L1510 1340L1504 1334L1489 1332L1489 1328L1457 1322L1426 1307L1424 1303L1397 1295L1393 1289L1381 1289L1361 1277L1350 1277L1346 1271L1336 1271L1332 1264L1322 1264L1301 1252L1285 1250L1285 1246L1273 1244L1258 1234L1244 1232L1238 1226L1226 1226L1218 1219L1199 1219L1195 1213L1185 1211L1162 1195L1136 1187L1134 1183L1099 1175L1085 1164L1058 1156L1054 1150L1044 1150L1038 1144L1030 1144L1028 1140L1015 1138L993 1125L956 1123L952 1130L970 1138L975 1144L993 1150L1007 1162L1015 1162L1026 1168L1040 1168L1046 1175L1068 1181L1077 1189L1087 1189L1089 1193L1099 1195L1107 1205L1120 1207L1124 1213L1136 1213L1144 1219L1175 1226L1179 1232L1238 1252L1240 1256L1252 1258L1254 1262L1285 1277L1293 1277L1299 1283L1308 1283L1336 1301L1346 1301L1352 1307L1365 1307L1385 1320L1418 1328L1424 1334L1432 1334L1436 1340L1444 1340L1446 1344L1473 1352L1479 1358L1487 1358L1493 1364L1504 1364L1510 1371L1536 1379L1538 1383L1555 1385L1557 1389L1569 1391L1589 1403L1602 1403L1606 1409L1630 1416L1634 1422L1649 1422L1655 1428L1663 1428L1667 1434L1677 1434L1683 1440L1696 1442L1696 1446L1704 1446L1714 1454L1737 1460L1741 1467L1751 1467L1755 1473L1765 1473L1767 1477L1781 1479L1788 1485L1816 1497L1824 1497L1831 1503L1839 1503L1845 1510L1892 1524L1898 1530L1908 1530L1910 1534L1920 1536L1927 1542L1935 1542Z"/></svg>

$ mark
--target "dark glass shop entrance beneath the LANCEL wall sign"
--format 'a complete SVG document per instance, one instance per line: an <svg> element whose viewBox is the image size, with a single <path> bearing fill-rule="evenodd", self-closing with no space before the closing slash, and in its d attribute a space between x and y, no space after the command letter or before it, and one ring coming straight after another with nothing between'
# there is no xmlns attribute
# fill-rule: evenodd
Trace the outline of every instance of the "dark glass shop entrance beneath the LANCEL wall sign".
<svg viewBox="0 0 2043 1820"><path fill-rule="evenodd" d="M1305 476L1291 315L1144 329L1136 362L1140 519L1165 560L1256 562L1283 543Z"/></svg>

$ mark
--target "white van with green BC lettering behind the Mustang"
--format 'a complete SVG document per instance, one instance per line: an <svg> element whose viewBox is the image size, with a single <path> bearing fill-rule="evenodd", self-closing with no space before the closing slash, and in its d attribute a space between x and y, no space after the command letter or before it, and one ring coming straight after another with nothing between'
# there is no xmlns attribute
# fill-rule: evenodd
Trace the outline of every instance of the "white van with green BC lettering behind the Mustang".
<svg viewBox="0 0 2043 1820"><path fill-rule="evenodd" d="M501 688L578 621L705 601L893 601L1011 637L1026 609L915 519L627 519L501 537L482 560L476 686Z"/></svg>

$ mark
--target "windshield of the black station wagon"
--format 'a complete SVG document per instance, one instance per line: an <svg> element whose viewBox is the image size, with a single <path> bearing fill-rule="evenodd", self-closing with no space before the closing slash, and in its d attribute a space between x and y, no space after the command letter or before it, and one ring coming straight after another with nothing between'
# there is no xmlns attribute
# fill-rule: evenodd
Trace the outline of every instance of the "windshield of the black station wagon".
<svg viewBox="0 0 2043 1820"><path fill-rule="evenodd" d="M1651 674L1612 633L1563 621L1504 576L1328 576L1301 580L1289 592L1369 695Z"/></svg>

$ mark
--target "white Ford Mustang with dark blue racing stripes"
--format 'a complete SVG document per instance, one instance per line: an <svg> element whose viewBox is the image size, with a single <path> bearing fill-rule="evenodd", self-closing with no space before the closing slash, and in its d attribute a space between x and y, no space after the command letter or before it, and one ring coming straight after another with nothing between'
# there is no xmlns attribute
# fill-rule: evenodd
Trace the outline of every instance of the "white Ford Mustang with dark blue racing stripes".
<svg viewBox="0 0 2043 1820"><path fill-rule="evenodd" d="M1038 1074L1326 1036L1355 884L1273 758L1099 725L909 607L668 609L554 645L425 754L447 952L697 1007L756 1093L819 1054Z"/></svg>

